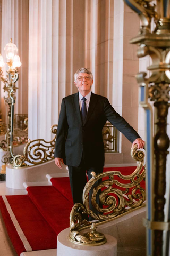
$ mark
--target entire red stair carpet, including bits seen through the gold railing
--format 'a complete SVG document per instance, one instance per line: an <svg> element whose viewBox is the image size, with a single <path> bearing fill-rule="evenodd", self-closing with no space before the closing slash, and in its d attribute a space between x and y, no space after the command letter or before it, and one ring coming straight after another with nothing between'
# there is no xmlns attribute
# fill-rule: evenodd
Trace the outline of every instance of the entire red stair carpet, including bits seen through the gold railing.
<svg viewBox="0 0 170 256"><path fill-rule="evenodd" d="M121 171L123 175L129 175L134 170L135 167L114 167L105 168L104 172ZM130 182L123 181L116 175L114 178L122 183ZM51 182L53 186L28 187L28 195L6 196L4 199L0 196L3 220L18 255L25 251L56 248L57 235L69 227L69 215L73 206L69 177L52 178ZM145 181L141 182L141 186L145 188ZM21 229L19 232L10 210L7 209L10 206Z"/></svg>

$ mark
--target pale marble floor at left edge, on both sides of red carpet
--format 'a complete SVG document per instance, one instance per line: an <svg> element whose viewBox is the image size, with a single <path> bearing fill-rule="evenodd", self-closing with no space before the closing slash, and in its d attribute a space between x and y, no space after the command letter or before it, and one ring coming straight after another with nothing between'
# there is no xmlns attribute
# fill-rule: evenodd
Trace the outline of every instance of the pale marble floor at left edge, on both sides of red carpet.
<svg viewBox="0 0 170 256"><path fill-rule="evenodd" d="M5 181L0 181L0 195L24 195L26 190L16 190L7 188ZM8 237L2 215L0 212L0 256L17 256L13 245Z"/></svg>

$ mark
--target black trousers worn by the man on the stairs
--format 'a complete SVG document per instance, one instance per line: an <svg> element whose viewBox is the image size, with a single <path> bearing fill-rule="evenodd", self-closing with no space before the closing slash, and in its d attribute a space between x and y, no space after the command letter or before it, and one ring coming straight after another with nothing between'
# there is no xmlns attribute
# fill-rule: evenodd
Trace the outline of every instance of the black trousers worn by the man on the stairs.
<svg viewBox="0 0 170 256"><path fill-rule="evenodd" d="M90 173L93 171L97 175L97 174L103 172L103 166L100 166L100 167L86 166L83 159L78 167L69 166L70 186L71 186L74 204L75 203L81 203L81 204L83 203L82 194L83 194L83 189L87 183L86 171L88 174L88 179L90 180L92 178ZM95 183L94 186L96 186L97 184L98 184L98 181ZM89 192L90 210L94 211L95 213L98 213L91 204L91 195L92 195L92 189ZM96 196L96 203L99 204L99 196L98 195Z"/></svg>

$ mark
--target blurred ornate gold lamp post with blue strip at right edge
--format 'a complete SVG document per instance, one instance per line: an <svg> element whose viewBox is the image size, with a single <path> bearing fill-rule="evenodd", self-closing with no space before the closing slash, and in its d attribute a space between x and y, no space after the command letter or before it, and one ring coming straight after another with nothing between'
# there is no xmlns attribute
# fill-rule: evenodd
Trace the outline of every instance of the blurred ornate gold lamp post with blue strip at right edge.
<svg viewBox="0 0 170 256"><path fill-rule="evenodd" d="M145 16L149 22L147 29L146 26L140 28L139 35L130 41L139 45L139 58L150 55L152 59L152 64L148 67L152 73L150 77L146 78L147 74L142 72L136 76L140 85L140 104L146 113L147 255L168 255L170 188L169 182L166 183L166 161L169 153L167 115L170 103L170 1L158 0L155 1L156 5L150 0L124 2L140 18ZM156 24L154 31L150 30L152 19ZM154 101L154 118L149 99Z"/></svg>

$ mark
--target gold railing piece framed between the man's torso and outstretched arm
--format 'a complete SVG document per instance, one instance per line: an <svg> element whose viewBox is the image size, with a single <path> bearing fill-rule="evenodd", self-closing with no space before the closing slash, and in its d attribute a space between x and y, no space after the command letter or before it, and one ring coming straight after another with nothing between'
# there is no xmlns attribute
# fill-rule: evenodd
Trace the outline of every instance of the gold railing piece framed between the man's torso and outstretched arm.
<svg viewBox="0 0 170 256"><path fill-rule="evenodd" d="M118 130L111 123L106 122L102 131L105 153L118 152Z"/></svg>

